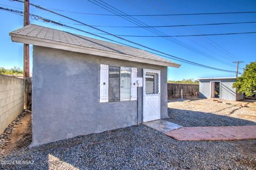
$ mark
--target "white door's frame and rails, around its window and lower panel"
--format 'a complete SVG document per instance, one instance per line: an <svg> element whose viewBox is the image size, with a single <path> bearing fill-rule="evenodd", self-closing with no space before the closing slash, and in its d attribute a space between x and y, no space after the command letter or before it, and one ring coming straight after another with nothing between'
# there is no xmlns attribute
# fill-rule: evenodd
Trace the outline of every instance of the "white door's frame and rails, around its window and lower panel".
<svg viewBox="0 0 256 170"><path fill-rule="evenodd" d="M157 94L146 94L146 73L158 74L158 93ZM155 82L154 82L155 83ZM145 119L145 98L146 96L159 96L158 102L158 118L161 119L161 70L143 69L143 91L142 91L142 122L148 122L151 120ZM155 120L157 120L155 119Z"/></svg>

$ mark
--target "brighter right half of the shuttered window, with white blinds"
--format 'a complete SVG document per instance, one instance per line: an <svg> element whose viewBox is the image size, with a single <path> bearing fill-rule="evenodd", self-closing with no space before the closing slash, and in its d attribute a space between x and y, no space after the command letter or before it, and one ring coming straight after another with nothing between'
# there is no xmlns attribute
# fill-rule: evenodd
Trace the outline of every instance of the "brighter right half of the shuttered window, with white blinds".
<svg viewBox="0 0 256 170"><path fill-rule="evenodd" d="M121 67L120 74L120 100L130 100L131 98L131 68Z"/></svg>

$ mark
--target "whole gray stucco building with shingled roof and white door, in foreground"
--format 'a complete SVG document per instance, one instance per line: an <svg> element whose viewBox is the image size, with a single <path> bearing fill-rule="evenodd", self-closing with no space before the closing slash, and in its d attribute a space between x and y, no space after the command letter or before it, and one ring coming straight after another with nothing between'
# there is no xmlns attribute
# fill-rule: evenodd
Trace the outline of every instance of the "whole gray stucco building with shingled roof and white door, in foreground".
<svg viewBox="0 0 256 170"><path fill-rule="evenodd" d="M168 117L167 67L179 64L37 25L10 36L33 45L31 145Z"/></svg>

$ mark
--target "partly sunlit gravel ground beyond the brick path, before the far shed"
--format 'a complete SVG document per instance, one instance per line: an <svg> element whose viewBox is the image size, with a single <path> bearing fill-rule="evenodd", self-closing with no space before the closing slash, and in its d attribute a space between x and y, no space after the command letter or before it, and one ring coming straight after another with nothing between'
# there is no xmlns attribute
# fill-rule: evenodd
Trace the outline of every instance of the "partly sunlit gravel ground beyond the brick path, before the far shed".
<svg viewBox="0 0 256 170"><path fill-rule="evenodd" d="M166 120L181 126L256 125L256 108L240 106L246 103L223 104L210 99L197 99L191 102L171 100L168 103L170 118Z"/></svg>

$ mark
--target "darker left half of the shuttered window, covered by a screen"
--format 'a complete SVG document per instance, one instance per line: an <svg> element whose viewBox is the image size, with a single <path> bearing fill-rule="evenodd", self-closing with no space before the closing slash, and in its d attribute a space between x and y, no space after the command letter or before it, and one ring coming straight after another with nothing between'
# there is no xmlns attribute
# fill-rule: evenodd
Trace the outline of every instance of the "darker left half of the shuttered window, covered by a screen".
<svg viewBox="0 0 256 170"><path fill-rule="evenodd" d="M120 101L120 67L109 66L108 101Z"/></svg>

